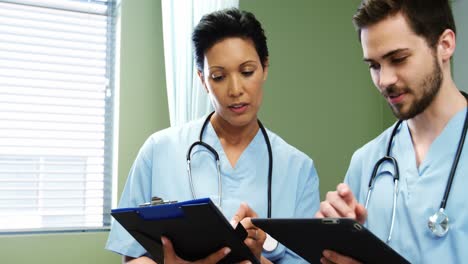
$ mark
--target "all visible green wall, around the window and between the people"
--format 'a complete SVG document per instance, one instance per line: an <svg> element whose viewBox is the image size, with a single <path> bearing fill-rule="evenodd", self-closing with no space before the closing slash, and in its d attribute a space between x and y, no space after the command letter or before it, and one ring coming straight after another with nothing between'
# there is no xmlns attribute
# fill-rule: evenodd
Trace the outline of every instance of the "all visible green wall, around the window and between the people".
<svg viewBox="0 0 468 264"><path fill-rule="evenodd" d="M358 2L240 0L269 41L262 122L314 159L322 195L343 179L352 152L392 122L361 62L351 24ZM169 126L160 14L160 0L123 0L119 196L141 144ZM107 232L1 236L1 262L120 263L103 249L106 238Z"/></svg>

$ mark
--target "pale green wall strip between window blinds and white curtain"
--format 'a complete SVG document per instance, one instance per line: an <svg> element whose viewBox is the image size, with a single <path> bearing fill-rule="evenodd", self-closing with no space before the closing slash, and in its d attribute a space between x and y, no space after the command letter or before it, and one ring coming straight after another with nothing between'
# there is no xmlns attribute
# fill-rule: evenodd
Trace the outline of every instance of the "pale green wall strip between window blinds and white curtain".
<svg viewBox="0 0 468 264"><path fill-rule="evenodd" d="M160 0L123 0L118 194L139 148L169 127Z"/></svg>

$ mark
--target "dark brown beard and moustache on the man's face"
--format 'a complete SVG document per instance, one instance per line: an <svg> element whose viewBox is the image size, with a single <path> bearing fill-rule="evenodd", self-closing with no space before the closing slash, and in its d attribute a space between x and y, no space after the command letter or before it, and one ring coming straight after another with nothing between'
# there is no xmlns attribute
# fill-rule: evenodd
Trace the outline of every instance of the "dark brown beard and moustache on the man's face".
<svg viewBox="0 0 468 264"><path fill-rule="evenodd" d="M396 118L401 120L411 119L420 113L424 112L426 108L434 101L434 98L439 93L440 87L443 81L442 69L437 63L437 59L434 56L434 70L428 74L422 82L422 95L420 98L416 98L415 101L410 105L406 112L402 112L402 104L390 105L393 114ZM395 86L390 86L386 90L386 94L392 94L399 91ZM414 89L405 88L403 92L413 93Z"/></svg>

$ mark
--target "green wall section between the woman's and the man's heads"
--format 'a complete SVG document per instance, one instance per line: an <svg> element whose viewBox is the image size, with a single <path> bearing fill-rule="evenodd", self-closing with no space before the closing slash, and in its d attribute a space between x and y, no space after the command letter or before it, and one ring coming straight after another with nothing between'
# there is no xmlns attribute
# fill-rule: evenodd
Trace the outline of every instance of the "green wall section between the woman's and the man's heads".
<svg viewBox="0 0 468 264"><path fill-rule="evenodd" d="M249 1L270 48L263 123L309 154L322 197L333 190L352 153L388 121L351 17L359 1Z"/></svg>

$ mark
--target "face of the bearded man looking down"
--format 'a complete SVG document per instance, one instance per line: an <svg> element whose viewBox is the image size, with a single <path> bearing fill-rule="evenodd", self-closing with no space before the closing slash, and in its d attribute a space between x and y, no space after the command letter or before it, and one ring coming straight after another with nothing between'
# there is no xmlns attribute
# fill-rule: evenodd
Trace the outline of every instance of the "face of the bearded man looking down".
<svg viewBox="0 0 468 264"><path fill-rule="evenodd" d="M443 81L435 50L401 14L363 28L361 42L372 81L394 115L406 120L422 113Z"/></svg>

